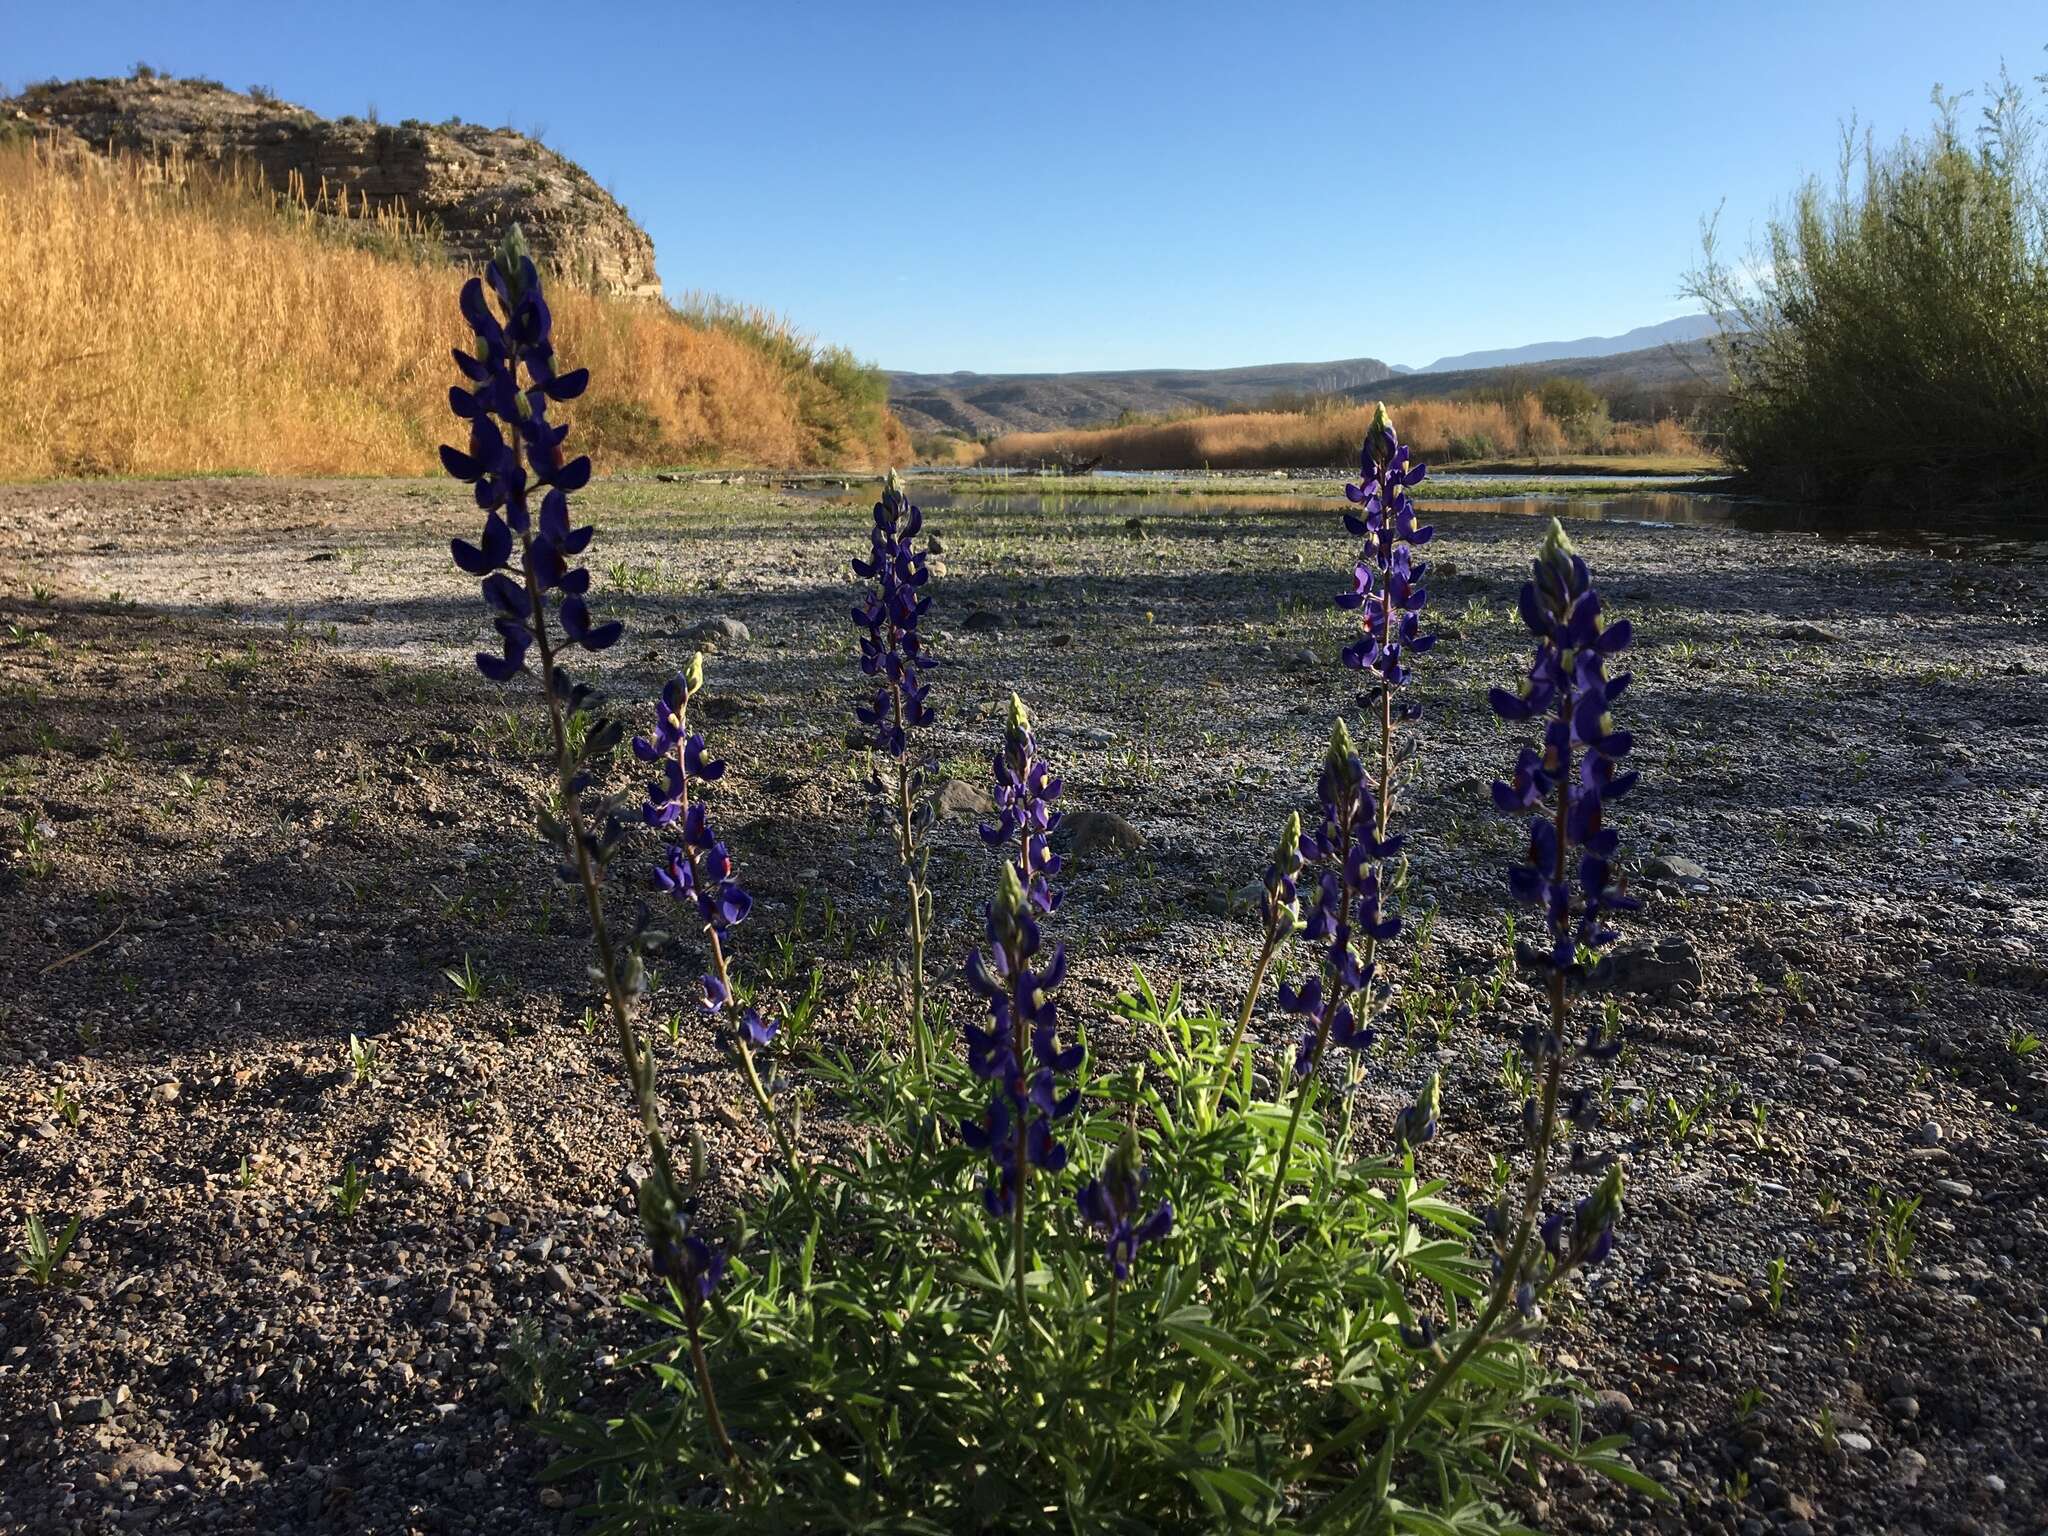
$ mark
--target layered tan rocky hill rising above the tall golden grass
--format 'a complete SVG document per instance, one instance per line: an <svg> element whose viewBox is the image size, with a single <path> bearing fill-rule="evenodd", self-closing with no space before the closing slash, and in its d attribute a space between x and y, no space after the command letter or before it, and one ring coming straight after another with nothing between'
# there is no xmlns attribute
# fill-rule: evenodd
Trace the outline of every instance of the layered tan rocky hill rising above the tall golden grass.
<svg viewBox="0 0 2048 1536"><path fill-rule="evenodd" d="M29 86L0 104L0 117L96 152L240 162L276 190L297 176L307 193L326 186L336 201L346 193L352 209L403 205L463 264L481 264L518 219L561 276L600 293L662 293L647 231L578 164L512 129L328 121L264 92L156 74Z"/></svg>

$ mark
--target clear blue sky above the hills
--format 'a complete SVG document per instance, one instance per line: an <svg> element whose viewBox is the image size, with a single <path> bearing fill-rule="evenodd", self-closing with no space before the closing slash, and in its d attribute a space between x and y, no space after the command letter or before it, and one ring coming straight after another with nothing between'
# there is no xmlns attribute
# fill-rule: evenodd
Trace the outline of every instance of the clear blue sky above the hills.
<svg viewBox="0 0 2048 1536"><path fill-rule="evenodd" d="M899 369L1227 367L1686 311L1847 115L2048 68L2038 0L94 4L0 0L6 86L172 74L545 133L670 291Z"/></svg>

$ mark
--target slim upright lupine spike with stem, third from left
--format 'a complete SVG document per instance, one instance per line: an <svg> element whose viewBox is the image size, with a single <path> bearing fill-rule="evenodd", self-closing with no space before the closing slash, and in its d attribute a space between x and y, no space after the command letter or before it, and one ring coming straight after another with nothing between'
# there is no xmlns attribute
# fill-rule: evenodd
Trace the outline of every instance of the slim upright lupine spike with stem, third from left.
<svg viewBox="0 0 2048 1536"><path fill-rule="evenodd" d="M895 764L895 831L897 856L909 895L909 1036L920 1069L926 1061L924 1030L924 932L930 905L926 883L926 852L920 834L928 811L918 807L922 774L909 750L909 733L938 719L926 682L936 662L924 649L918 621L932 606L924 592L932 580L930 555L918 549L924 512L903 494L903 479L889 471L883 500L874 504L874 524L868 532L868 557L854 561L854 575L872 582L874 590L854 608L854 623L866 631L860 637L860 670L874 680L870 700L854 707L872 748Z"/></svg>

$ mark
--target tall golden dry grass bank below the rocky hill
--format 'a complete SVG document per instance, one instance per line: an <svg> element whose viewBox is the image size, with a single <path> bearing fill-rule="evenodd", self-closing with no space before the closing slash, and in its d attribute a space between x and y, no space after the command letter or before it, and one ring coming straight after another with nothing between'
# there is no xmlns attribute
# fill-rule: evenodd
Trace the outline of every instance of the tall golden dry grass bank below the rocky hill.
<svg viewBox="0 0 2048 1536"><path fill-rule="evenodd" d="M463 338L430 231L139 160L0 145L0 477L422 473ZM561 291L610 465L907 457L879 371L786 326ZM436 360L438 358L438 360Z"/></svg>

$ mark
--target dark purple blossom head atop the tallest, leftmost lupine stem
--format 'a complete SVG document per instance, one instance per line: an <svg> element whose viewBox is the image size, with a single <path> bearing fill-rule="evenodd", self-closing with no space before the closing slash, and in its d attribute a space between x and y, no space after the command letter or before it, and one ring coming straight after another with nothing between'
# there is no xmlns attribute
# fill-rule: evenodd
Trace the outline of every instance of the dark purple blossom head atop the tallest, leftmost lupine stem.
<svg viewBox="0 0 2048 1536"><path fill-rule="evenodd" d="M496 297L496 311L485 291ZM588 526L569 526L569 494L590 483L590 459L565 459L561 442L569 428L547 420L551 401L584 393L590 371L555 373L553 322L518 225L483 279L463 285L461 311L477 350L455 352L469 383L449 389L449 406L469 422L469 444L442 446L440 463L475 487L483 535L477 543L455 539L449 553L463 571L481 578L502 643L498 655L477 653L477 670L506 682L526 670L526 651L547 623L549 592L557 594L561 633L586 651L606 649L621 633L616 621L592 621L590 571L569 563L592 535ZM539 514L530 506L535 494Z"/></svg>

